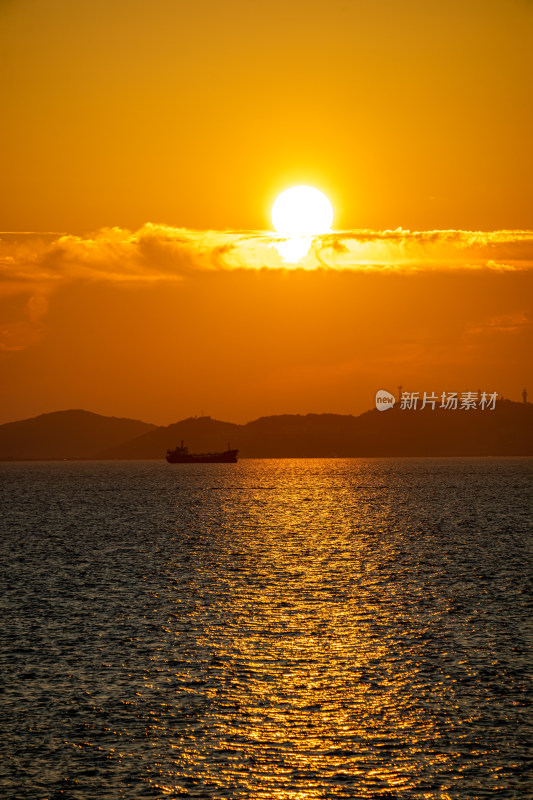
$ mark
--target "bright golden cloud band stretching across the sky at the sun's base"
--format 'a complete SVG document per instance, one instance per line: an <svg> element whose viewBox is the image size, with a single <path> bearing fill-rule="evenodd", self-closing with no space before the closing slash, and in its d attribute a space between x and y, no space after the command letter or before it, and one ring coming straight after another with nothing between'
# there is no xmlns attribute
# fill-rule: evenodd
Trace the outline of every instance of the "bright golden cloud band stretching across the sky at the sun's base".
<svg viewBox="0 0 533 800"><path fill-rule="evenodd" d="M262 231L193 231L148 223L138 231L105 228L92 235L0 233L0 285L71 280L183 280L236 269L420 272L533 268L532 231L335 231L316 236L288 264L281 237Z"/></svg>

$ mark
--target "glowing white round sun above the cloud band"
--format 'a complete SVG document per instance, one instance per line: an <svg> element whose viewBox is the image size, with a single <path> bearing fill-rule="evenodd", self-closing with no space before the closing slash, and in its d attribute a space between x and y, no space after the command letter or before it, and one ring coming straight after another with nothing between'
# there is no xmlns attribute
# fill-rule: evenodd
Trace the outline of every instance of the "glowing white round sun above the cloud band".
<svg viewBox="0 0 533 800"><path fill-rule="evenodd" d="M317 236L331 230L333 207L313 186L292 186L276 198L271 216L282 236Z"/></svg>

